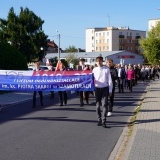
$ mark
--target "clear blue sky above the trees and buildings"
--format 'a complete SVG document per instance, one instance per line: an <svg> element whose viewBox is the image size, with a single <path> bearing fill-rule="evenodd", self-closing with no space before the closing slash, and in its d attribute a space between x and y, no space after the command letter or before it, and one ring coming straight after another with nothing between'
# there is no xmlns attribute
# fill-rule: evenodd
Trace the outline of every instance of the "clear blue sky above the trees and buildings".
<svg viewBox="0 0 160 160"><path fill-rule="evenodd" d="M0 18L7 19L11 7L16 15L28 8L42 20L48 39L65 50L85 49L85 31L96 27L128 27L148 30L148 20L160 18L159 0L0 0Z"/></svg>

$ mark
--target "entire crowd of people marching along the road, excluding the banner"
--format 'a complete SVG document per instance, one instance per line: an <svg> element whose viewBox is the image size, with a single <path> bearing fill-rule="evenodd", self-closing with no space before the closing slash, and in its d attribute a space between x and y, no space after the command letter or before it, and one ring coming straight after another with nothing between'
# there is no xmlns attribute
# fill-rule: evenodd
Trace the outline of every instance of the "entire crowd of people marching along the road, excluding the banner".
<svg viewBox="0 0 160 160"><path fill-rule="evenodd" d="M63 63L60 62L60 67L56 70L66 70ZM39 62L35 63L35 70L39 70ZM155 77L159 79L159 66L145 66L145 65L121 65L114 64L112 59L107 59L106 64L103 64L103 57L97 57L95 66L90 67L85 65L85 59L80 59L77 70L92 70L94 76L95 90L79 91L77 95L80 98L80 107L84 106L84 100L86 104L89 104L89 95L92 93L95 96L96 113L98 117L98 126L106 128L106 117L111 116L114 106L115 87L117 86L119 93L124 93L125 89L130 92L133 90L133 86L137 85L137 81L155 80ZM53 66L49 66L49 70L54 71ZM43 93L38 91L40 95L40 103L43 106ZM36 93L33 93L33 105L36 107ZM60 106L67 105L67 92L58 91ZM51 91L50 98L54 98L54 91ZM101 107L103 108L101 110Z"/></svg>

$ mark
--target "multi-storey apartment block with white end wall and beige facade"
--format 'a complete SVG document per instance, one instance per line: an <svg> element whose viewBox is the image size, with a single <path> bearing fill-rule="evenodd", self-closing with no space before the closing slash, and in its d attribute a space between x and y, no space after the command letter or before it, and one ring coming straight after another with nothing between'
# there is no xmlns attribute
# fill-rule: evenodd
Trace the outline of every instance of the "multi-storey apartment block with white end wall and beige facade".
<svg viewBox="0 0 160 160"><path fill-rule="evenodd" d="M126 50L142 54L140 38L146 38L146 31L129 27L86 29L86 52Z"/></svg>

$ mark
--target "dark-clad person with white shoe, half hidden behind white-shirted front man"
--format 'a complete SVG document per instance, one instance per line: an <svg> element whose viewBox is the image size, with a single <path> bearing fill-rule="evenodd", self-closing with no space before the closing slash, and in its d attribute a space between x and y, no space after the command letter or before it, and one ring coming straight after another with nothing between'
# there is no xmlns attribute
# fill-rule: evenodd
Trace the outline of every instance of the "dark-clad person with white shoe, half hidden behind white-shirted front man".
<svg viewBox="0 0 160 160"><path fill-rule="evenodd" d="M114 67L112 59L107 59L106 65L110 69L112 84L113 84L112 95L109 97L110 103L109 103L109 111L107 114L107 116L111 116L113 111L115 85L116 85L116 80L118 79L118 72L117 72L117 69Z"/></svg>

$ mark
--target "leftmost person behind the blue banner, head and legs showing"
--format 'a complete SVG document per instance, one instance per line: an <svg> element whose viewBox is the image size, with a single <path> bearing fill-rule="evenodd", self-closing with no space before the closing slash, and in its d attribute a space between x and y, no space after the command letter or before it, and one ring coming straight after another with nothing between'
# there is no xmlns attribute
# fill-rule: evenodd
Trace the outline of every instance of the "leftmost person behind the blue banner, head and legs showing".
<svg viewBox="0 0 160 160"><path fill-rule="evenodd" d="M35 71L39 71L40 70L40 63L39 62L35 62ZM43 93L42 91L38 91L39 93L39 97L40 97L40 103L41 106L43 106ZM36 108L36 95L37 95L37 91L33 92L33 105L32 108Z"/></svg>

